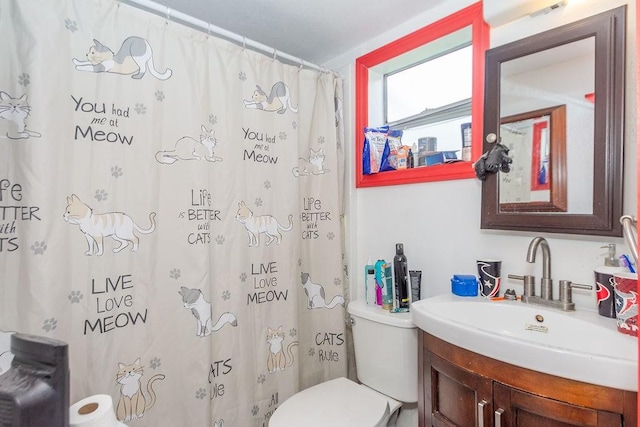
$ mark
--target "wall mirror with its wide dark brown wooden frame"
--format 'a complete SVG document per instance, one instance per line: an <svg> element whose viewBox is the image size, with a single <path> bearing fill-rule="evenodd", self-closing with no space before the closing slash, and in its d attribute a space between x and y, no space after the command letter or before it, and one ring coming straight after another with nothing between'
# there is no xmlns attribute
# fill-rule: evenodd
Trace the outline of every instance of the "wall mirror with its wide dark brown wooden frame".
<svg viewBox="0 0 640 427"><path fill-rule="evenodd" d="M481 227L621 236L626 6L487 51Z"/></svg>

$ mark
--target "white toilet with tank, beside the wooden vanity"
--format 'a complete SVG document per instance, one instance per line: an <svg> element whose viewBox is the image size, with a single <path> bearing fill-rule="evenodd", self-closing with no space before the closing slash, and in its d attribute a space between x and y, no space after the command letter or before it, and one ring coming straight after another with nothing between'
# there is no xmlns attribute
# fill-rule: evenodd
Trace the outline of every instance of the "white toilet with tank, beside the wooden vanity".
<svg viewBox="0 0 640 427"><path fill-rule="evenodd" d="M269 427L395 426L404 403L418 401L418 330L409 313L349 303L358 380L336 378L284 401Z"/></svg>

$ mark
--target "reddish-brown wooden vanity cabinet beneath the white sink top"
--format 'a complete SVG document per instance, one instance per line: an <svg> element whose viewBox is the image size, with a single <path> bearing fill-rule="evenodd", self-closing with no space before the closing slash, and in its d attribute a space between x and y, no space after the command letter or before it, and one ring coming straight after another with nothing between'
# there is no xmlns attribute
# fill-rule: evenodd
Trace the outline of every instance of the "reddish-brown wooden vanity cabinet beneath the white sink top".
<svg viewBox="0 0 640 427"><path fill-rule="evenodd" d="M637 425L635 392L520 368L426 332L419 341L420 427Z"/></svg>

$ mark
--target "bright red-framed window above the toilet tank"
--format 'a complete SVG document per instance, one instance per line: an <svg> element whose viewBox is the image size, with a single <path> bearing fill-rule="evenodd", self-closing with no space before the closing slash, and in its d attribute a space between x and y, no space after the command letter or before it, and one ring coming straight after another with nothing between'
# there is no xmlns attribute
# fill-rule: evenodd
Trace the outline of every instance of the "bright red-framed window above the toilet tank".
<svg viewBox="0 0 640 427"><path fill-rule="evenodd" d="M476 3L356 60L357 187L475 176L470 161L482 149L487 45L482 4ZM404 145L428 142L465 161L363 175L363 128L383 124L402 129ZM465 135L478 143L463 149Z"/></svg>

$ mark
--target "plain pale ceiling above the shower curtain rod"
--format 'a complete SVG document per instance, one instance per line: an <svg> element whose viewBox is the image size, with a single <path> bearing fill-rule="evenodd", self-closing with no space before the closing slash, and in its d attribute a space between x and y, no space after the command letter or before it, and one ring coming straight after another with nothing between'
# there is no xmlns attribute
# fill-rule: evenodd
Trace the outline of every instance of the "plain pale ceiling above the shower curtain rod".
<svg viewBox="0 0 640 427"><path fill-rule="evenodd" d="M322 65L445 0L155 2L280 52Z"/></svg>

